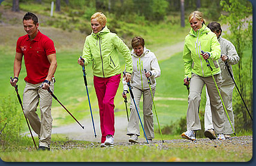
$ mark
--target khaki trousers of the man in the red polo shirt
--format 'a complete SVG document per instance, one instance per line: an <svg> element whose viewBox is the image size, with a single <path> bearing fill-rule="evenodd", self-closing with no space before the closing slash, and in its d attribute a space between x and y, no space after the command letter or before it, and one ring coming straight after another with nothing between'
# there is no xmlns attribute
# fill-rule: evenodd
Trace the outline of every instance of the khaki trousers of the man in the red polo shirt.
<svg viewBox="0 0 256 166"><path fill-rule="evenodd" d="M53 81L50 90L54 90ZM23 93L23 109L29 124L39 137L39 146L50 147L52 135L52 96L47 90L40 88L40 84L26 82ZM41 119L36 111L40 103Z"/></svg>

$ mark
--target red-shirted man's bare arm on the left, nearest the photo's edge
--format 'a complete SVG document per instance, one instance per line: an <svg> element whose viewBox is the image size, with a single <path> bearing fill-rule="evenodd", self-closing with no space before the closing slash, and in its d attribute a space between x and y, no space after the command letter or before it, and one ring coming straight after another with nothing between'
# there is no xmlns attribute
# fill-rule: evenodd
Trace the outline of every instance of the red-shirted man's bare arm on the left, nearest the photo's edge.
<svg viewBox="0 0 256 166"><path fill-rule="evenodd" d="M10 81L11 85L14 87L18 81L18 77L20 74L20 69L22 68L22 53L17 53L15 54L15 59L14 59L14 79L13 81Z"/></svg>

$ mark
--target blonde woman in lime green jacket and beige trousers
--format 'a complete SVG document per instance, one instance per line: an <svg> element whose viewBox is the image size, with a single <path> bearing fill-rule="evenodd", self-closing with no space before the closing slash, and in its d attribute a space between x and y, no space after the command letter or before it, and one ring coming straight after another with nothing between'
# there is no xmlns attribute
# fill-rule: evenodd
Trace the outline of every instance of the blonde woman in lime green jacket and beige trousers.
<svg viewBox="0 0 256 166"><path fill-rule="evenodd" d="M222 78L218 59L221 57L221 47L215 33L204 24L203 13L194 11L189 15L191 30L185 38L183 48L184 83L190 85L188 96L188 110L186 114L187 131L182 133L182 138L195 140L195 131L201 130L198 108L200 106L201 91L206 84L210 104L212 108L212 121L218 139L224 135L224 109L219 97L212 75L220 88ZM204 51L204 53L201 53ZM207 66L206 60L212 67L212 73ZM190 82L189 82L190 81ZM212 133L205 133L206 137ZM216 138L216 137L215 137Z"/></svg>

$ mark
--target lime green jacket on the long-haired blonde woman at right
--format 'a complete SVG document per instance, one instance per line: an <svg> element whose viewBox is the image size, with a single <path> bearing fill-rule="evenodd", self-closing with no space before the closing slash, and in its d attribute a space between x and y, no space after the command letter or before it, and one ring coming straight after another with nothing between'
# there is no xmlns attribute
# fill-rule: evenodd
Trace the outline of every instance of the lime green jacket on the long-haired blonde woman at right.
<svg viewBox="0 0 256 166"><path fill-rule="evenodd" d="M207 77L212 76L206 60L201 56L201 50L210 53L209 63L212 67L212 74L221 73L218 59L221 57L221 46L215 33L205 24L195 32L192 28L185 38L183 48L184 79L191 78L192 73Z"/></svg>

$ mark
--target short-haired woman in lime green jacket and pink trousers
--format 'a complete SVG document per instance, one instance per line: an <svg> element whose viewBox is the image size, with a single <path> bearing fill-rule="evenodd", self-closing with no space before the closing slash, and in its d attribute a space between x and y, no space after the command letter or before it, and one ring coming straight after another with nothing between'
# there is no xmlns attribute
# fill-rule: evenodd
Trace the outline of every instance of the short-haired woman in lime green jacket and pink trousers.
<svg viewBox="0 0 256 166"><path fill-rule="evenodd" d="M106 26L107 18L103 13L91 17L91 35L86 36L80 65L92 62L94 88L98 98L101 122L101 147L113 145L115 134L114 99L121 81L119 54L126 64L125 80L131 79L131 52L125 43Z"/></svg>

